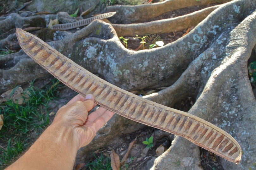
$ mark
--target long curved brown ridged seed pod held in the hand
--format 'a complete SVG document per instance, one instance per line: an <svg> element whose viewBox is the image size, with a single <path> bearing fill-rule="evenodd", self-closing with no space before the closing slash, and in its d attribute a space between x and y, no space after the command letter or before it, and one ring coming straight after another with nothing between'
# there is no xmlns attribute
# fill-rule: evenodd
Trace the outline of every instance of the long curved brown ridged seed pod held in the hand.
<svg viewBox="0 0 256 170"><path fill-rule="evenodd" d="M71 89L83 96L94 95L95 103L136 122L180 135L230 162L240 162L240 145L217 126L112 85L26 31L17 28L16 35L28 56Z"/></svg>

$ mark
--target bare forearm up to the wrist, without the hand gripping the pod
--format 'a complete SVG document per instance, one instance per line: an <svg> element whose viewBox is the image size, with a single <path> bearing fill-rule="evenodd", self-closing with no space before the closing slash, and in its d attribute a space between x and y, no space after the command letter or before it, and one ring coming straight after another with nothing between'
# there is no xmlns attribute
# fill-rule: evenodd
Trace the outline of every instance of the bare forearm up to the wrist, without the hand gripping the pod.
<svg viewBox="0 0 256 170"><path fill-rule="evenodd" d="M51 124L9 169L72 169L78 151L74 135L71 127Z"/></svg>

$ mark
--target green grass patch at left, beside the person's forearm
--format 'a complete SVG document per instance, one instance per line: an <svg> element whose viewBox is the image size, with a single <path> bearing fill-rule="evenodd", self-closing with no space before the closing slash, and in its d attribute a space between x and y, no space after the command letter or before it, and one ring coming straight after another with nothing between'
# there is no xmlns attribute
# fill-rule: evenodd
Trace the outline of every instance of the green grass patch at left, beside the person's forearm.
<svg viewBox="0 0 256 170"><path fill-rule="evenodd" d="M57 99L58 80L52 80L43 89L35 87L34 81L23 91L29 99L23 105L12 100L0 104L3 127L0 130L0 169L11 164L26 150L49 124L49 102Z"/></svg>

